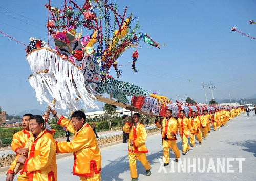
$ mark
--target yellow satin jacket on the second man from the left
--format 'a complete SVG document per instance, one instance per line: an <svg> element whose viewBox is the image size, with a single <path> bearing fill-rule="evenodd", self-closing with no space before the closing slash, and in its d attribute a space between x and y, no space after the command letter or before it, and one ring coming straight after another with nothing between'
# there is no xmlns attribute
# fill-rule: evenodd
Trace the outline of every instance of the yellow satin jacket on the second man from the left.
<svg viewBox="0 0 256 181"><path fill-rule="evenodd" d="M19 169L23 168L18 179L22 180L57 180L57 164L56 164L56 144L53 139L53 131L42 131L37 138L32 137L29 146L28 158L24 165L21 164ZM10 166L8 173L13 173L17 164L17 158Z"/></svg>

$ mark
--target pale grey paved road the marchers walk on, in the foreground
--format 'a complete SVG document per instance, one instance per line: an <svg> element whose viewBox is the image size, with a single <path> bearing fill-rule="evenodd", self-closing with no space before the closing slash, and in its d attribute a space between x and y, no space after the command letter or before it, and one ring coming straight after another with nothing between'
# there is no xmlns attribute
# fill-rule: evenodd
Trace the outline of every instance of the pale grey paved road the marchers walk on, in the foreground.
<svg viewBox="0 0 256 181"><path fill-rule="evenodd" d="M174 166L168 165L164 173L158 173L161 167L162 159L162 145L160 134L151 135L147 138L146 146L149 150L147 154L147 159L151 164L151 176L145 176L145 170L143 166L137 162L137 170L139 175L139 180L255 180L256 178L256 115L251 114L247 117L246 114L242 114L239 117L234 118L229 121L225 127L218 129L217 131L211 131L208 135L207 140L203 140L202 145L196 144L195 147L191 149L190 152L185 156L181 156L180 163L188 162L188 159L193 158L202 159L205 158L206 170L208 164L211 163L212 167L217 171L217 159L225 159L225 173L213 173L210 172L199 173L198 166L199 162L195 162L195 173L178 173L179 164L174 163ZM179 150L182 150L181 139L178 136L177 142ZM102 180L131 180L129 164L127 160L127 145L117 144L110 147L105 147L101 149L102 153ZM170 154L173 158L173 152ZM234 173L227 173L227 159L228 158L244 158L245 161L242 162L242 172L239 173L239 162L230 161L232 167L230 170L234 170ZM173 160L173 159L170 159ZM59 180L79 180L77 176L72 175L73 168L73 156L65 157L63 159L57 160L58 165L58 179ZM197 161L197 160L196 160ZM211 168L212 168L211 167ZM175 173L169 173L170 170L175 171ZM186 167L188 168L188 167ZM193 172L193 169L191 169ZM61 173L61 174L60 174ZM0 173L0 180L5 180L5 173Z"/></svg>

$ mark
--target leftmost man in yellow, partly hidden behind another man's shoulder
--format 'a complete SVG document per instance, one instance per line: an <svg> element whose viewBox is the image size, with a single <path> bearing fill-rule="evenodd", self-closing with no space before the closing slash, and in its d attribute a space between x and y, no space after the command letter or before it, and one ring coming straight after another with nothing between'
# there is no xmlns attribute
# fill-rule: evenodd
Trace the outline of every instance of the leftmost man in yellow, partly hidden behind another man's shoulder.
<svg viewBox="0 0 256 181"><path fill-rule="evenodd" d="M28 155L28 149L24 148L26 143L28 142L31 134L29 132L29 119L33 116L32 114L25 114L22 117L22 127L23 130L16 132L13 135L11 148L16 154L20 154L23 156Z"/></svg>

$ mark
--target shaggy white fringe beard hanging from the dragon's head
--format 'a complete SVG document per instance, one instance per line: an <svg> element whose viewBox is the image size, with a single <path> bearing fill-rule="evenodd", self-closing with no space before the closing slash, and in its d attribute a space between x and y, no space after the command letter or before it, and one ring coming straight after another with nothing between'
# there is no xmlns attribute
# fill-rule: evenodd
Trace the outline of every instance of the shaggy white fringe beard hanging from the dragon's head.
<svg viewBox="0 0 256 181"><path fill-rule="evenodd" d="M78 101L82 101L86 110L98 109L93 100L96 97L91 86L84 79L83 71L71 62L63 60L47 49L29 53L27 60L33 73L29 77L29 83L35 89L40 104L46 102L52 108L78 110ZM47 73L38 73L47 70ZM53 98L56 99L55 105L51 103Z"/></svg>

